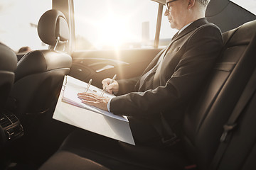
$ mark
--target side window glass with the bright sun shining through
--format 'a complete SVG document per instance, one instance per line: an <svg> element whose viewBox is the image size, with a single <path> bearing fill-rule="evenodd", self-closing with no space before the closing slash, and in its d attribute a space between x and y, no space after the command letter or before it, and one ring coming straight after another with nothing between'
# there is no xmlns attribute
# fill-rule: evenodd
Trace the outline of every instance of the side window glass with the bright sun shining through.
<svg viewBox="0 0 256 170"><path fill-rule="evenodd" d="M75 49L153 47L158 3L74 0Z"/></svg>

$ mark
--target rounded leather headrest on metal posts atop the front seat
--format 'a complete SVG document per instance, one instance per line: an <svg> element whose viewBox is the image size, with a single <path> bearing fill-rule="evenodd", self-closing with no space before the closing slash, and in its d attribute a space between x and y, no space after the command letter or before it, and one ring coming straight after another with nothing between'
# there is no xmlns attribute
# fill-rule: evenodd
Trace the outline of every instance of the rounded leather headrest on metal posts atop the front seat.
<svg viewBox="0 0 256 170"><path fill-rule="evenodd" d="M69 28L64 14L55 9L43 13L38 21L38 35L44 43L52 46L58 37L63 42L69 40Z"/></svg>

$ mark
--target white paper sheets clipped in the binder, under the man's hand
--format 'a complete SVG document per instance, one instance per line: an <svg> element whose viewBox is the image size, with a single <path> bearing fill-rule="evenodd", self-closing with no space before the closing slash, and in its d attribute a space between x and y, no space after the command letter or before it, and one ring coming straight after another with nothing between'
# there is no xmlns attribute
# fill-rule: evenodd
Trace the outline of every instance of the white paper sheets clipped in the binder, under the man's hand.
<svg viewBox="0 0 256 170"><path fill-rule="evenodd" d="M80 98L78 98L78 93L85 92L87 83L80 81L78 79L75 79L73 77L70 77L70 76L65 76L64 81L65 81L65 85L63 87L64 92L63 92L62 100L65 101L66 103L70 103L70 104L73 104L74 106L78 106L80 108L85 108L87 110L94 111L95 113L100 113L102 115L107 115L111 118L116 118L116 119L124 120L124 121L128 122L126 116L114 115L113 113L103 111L100 108L95 108L93 106L89 106L85 103L82 103ZM90 85L90 88L87 92L100 95L102 92L102 89L99 89L95 86ZM103 96L107 96L109 98L114 97L114 95L109 94L107 92L105 92L105 94Z"/></svg>

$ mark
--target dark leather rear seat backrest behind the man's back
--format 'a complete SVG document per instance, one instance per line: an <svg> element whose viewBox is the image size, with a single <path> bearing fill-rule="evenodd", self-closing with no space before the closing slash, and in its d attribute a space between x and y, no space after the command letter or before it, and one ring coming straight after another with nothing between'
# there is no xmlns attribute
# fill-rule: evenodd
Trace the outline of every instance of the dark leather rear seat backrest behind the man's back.
<svg viewBox="0 0 256 170"><path fill-rule="evenodd" d="M225 47L210 79L193 101L183 122L183 141L199 169L208 169L223 125L256 66L256 21L223 33ZM195 157L196 155L196 157Z"/></svg>

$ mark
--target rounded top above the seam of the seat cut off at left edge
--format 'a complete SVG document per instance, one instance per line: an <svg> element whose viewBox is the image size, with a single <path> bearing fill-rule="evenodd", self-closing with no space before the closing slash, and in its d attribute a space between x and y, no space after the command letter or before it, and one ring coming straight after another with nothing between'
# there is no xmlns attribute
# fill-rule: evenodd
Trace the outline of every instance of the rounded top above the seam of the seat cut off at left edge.
<svg viewBox="0 0 256 170"><path fill-rule="evenodd" d="M17 67L17 57L14 50L0 42L0 71L14 72Z"/></svg>

